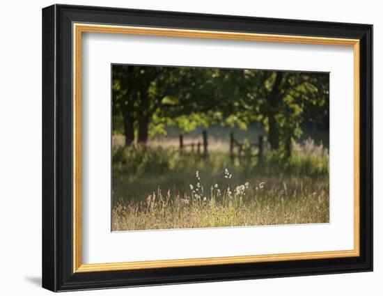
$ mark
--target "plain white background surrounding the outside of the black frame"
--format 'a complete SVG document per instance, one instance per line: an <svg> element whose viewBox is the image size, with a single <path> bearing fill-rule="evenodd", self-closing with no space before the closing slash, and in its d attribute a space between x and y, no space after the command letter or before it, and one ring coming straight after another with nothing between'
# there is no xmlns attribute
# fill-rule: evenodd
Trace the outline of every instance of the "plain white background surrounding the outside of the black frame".
<svg viewBox="0 0 383 296"><path fill-rule="evenodd" d="M41 8L3 1L0 10L0 293L48 295L41 273ZM83 292L84 295L382 295L383 18L380 1L66 1L196 13L374 24L375 271ZM77 293L81 295L82 293Z"/></svg>

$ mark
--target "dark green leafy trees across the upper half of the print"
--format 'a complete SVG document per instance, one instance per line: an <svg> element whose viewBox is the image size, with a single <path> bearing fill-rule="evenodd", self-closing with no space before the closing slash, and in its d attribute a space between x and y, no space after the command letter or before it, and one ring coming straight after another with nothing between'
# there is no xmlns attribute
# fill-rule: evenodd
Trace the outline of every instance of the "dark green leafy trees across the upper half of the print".
<svg viewBox="0 0 383 296"><path fill-rule="evenodd" d="M125 145L217 123L262 122L272 150L291 154L302 127L329 128L329 74L222 68L113 65L114 132Z"/></svg>

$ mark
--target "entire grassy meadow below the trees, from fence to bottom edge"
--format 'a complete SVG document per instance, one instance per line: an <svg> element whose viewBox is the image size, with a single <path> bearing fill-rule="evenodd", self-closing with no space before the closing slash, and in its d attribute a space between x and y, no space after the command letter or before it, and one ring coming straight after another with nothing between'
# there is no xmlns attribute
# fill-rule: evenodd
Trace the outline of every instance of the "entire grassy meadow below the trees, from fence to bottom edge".
<svg viewBox="0 0 383 296"><path fill-rule="evenodd" d="M276 153L231 161L228 143L207 157L178 152L178 139L146 146L113 139L112 231L329 222L329 153L306 139Z"/></svg>

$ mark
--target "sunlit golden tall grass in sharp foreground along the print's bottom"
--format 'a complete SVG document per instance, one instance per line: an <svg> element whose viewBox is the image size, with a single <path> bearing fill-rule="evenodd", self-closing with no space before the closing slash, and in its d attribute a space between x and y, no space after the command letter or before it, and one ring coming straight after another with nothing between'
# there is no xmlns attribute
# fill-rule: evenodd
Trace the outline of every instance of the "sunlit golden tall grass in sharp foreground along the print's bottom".
<svg viewBox="0 0 383 296"><path fill-rule="evenodd" d="M182 196L157 189L146 201L117 202L112 227L127 231L329 222L328 186L298 180L283 182L282 188L266 182L254 186L256 194L250 194L249 183L203 189L199 180Z"/></svg>

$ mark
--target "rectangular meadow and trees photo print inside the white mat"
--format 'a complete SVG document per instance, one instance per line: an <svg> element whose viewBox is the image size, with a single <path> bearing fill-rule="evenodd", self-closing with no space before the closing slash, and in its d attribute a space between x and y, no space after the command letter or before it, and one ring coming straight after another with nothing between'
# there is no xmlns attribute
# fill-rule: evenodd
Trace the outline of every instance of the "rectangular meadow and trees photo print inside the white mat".
<svg viewBox="0 0 383 296"><path fill-rule="evenodd" d="M329 73L111 65L111 230L329 223Z"/></svg>

